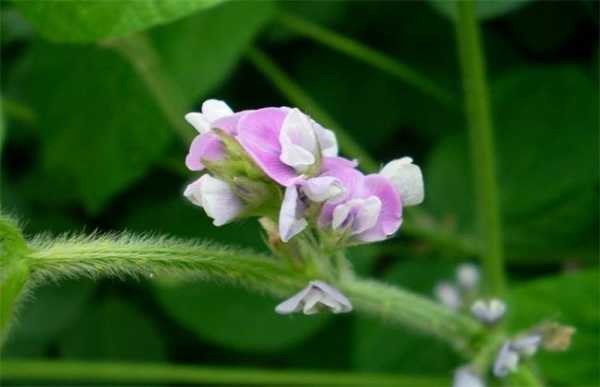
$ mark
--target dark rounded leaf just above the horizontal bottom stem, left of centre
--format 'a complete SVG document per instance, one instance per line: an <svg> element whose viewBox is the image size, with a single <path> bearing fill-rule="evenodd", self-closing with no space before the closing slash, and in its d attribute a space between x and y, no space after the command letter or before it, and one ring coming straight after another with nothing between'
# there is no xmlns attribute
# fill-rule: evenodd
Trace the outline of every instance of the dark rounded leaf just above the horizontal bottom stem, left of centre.
<svg viewBox="0 0 600 387"><path fill-rule="evenodd" d="M148 316L116 297L90 306L60 344L67 358L163 360L165 344Z"/></svg>

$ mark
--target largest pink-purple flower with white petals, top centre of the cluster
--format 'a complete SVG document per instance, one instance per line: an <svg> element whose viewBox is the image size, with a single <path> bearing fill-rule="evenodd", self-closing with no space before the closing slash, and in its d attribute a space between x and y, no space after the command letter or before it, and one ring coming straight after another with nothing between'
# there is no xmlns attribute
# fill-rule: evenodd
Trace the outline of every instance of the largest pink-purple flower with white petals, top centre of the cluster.
<svg viewBox="0 0 600 387"><path fill-rule="evenodd" d="M264 108L240 118L237 140L256 164L283 186L315 176L322 160L337 155L333 132L298 109Z"/></svg>

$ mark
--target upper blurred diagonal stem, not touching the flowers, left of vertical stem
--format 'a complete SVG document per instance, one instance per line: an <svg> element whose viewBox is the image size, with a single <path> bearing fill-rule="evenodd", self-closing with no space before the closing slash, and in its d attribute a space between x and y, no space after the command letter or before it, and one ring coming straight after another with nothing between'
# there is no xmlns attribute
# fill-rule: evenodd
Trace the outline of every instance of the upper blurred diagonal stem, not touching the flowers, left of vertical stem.
<svg viewBox="0 0 600 387"><path fill-rule="evenodd" d="M434 97L445 105L455 106L455 97L451 93L409 66L399 63L385 54L284 11L279 11L275 19L281 25L302 36L382 70L394 78L415 87L423 94Z"/></svg>

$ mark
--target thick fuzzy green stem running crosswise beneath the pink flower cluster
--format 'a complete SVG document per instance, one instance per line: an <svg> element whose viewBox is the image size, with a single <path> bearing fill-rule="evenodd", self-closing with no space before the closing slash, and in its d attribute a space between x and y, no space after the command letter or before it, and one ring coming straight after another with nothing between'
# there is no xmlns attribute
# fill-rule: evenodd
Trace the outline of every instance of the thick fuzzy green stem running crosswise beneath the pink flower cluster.
<svg viewBox="0 0 600 387"><path fill-rule="evenodd" d="M20 262L30 273L32 285L66 277L177 276L230 282L283 298L315 279L283 261L246 250L126 234L34 239ZM358 312L450 343L470 342L479 333L478 323L471 318L406 290L353 276L343 276L332 284L347 293Z"/></svg>

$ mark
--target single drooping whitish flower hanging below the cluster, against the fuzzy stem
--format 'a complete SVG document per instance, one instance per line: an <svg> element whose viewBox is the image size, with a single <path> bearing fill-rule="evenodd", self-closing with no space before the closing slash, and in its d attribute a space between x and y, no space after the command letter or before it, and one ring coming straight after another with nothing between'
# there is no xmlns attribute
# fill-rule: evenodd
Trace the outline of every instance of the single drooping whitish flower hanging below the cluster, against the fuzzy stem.
<svg viewBox="0 0 600 387"><path fill-rule="evenodd" d="M302 311L310 315L329 309L333 313L348 313L352 304L339 290L323 281L310 281L299 293L277 305L279 314Z"/></svg>

